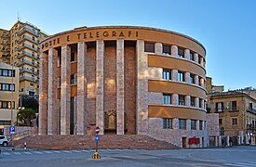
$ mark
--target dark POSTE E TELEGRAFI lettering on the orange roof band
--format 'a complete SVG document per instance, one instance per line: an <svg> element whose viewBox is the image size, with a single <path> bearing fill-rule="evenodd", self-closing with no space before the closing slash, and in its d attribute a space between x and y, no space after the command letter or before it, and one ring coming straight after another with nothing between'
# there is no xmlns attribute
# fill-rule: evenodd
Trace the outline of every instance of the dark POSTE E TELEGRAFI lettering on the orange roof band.
<svg viewBox="0 0 256 167"><path fill-rule="evenodd" d="M122 37L122 38L129 38L129 37L139 37L139 32L138 31L104 31L104 32L79 32L74 35L77 40L86 40L86 39L93 39L93 38L111 38L111 37ZM65 40L66 42L70 42L74 37L70 36L69 34L66 35ZM48 46L52 45L59 45L63 43L60 38L52 39L49 41L46 41L43 43L42 49L47 48Z"/></svg>

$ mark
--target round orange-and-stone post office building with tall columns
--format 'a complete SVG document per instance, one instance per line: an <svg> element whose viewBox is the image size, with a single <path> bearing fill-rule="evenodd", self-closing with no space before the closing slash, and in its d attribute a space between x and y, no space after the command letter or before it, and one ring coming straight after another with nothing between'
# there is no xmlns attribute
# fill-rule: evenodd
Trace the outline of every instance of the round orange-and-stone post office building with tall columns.
<svg viewBox="0 0 256 167"><path fill-rule="evenodd" d="M87 135L100 126L101 135L204 147L205 56L195 39L153 28L82 27L50 36L41 42L39 134Z"/></svg>

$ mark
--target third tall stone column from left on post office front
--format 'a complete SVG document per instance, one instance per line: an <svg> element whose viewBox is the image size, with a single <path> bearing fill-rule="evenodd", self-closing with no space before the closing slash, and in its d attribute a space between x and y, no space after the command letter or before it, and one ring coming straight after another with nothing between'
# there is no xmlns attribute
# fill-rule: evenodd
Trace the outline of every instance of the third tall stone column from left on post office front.
<svg viewBox="0 0 256 167"><path fill-rule="evenodd" d="M71 47L61 45L61 135L70 135Z"/></svg>

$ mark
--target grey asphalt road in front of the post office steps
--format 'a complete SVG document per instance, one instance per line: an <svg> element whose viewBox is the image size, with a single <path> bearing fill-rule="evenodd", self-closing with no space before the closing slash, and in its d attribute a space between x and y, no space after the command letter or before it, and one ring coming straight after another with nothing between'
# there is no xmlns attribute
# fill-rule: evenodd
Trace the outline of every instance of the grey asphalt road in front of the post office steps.
<svg viewBox="0 0 256 167"><path fill-rule="evenodd" d="M37 150L1 148L0 167L70 166L254 166L256 147L201 149L102 149L100 160L94 150Z"/></svg>

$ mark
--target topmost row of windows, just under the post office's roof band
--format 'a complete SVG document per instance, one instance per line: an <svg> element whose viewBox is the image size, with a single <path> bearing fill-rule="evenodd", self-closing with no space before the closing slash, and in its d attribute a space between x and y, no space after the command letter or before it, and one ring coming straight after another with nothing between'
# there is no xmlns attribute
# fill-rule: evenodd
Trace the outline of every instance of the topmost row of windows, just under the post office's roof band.
<svg viewBox="0 0 256 167"><path fill-rule="evenodd" d="M178 57L179 58L185 58L185 49L178 46ZM150 43L150 42L145 42L144 44L144 52L150 52L150 53L155 53L155 43ZM163 55L171 55L171 45L163 45L163 50L162 50L162 54ZM195 61L195 56L194 56L195 52L190 50L189 53L189 59L192 61ZM198 60L197 63L198 64L202 64L205 62L201 62L202 57L200 55L198 55Z"/></svg>

